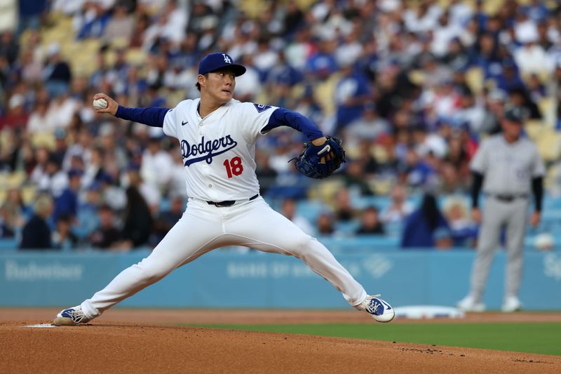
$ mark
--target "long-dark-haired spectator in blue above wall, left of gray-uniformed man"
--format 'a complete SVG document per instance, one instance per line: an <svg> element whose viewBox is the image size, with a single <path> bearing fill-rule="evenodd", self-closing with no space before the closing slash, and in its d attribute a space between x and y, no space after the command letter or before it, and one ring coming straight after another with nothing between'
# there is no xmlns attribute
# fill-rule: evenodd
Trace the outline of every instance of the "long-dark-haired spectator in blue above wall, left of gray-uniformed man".
<svg viewBox="0 0 561 374"><path fill-rule="evenodd" d="M401 246L403 248L435 247L435 232L438 229L450 231L448 222L440 213L435 196L425 194L421 206L405 221Z"/></svg>

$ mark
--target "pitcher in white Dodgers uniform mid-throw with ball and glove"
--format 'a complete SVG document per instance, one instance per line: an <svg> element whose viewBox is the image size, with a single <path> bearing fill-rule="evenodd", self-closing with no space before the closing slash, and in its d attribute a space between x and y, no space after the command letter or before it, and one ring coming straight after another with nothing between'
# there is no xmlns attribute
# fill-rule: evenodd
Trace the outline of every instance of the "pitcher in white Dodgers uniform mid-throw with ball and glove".
<svg viewBox="0 0 561 374"><path fill-rule="evenodd" d="M290 126L306 135L309 143L296 166L312 178L330 175L344 162L344 151L339 140L323 136L302 114L234 100L236 76L244 72L227 53L207 55L198 66L201 98L184 100L173 109L127 108L103 93L94 96L97 112L163 127L166 135L177 138L189 201L182 218L147 258L123 270L81 305L63 309L55 325L91 321L173 269L222 246L293 255L341 291L351 306L379 322L393 319L387 302L367 295L325 246L259 196L255 142L272 128Z"/></svg>

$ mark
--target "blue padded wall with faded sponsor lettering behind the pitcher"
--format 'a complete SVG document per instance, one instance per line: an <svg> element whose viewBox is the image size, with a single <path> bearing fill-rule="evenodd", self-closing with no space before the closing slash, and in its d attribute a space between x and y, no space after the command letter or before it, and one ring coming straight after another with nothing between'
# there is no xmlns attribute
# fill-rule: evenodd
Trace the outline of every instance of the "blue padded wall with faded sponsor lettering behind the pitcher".
<svg viewBox="0 0 561 374"><path fill-rule="evenodd" d="M148 251L0 253L0 306L72 306ZM471 251L386 251L336 257L370 293L394 306L454 305L468 290ZM505 253L493 264L485 302L499 309ZM525 309L561 309L561 252L525 253ZM123 307L344 308L329 283L296 258L214 251L121 303Z"/></svg>

